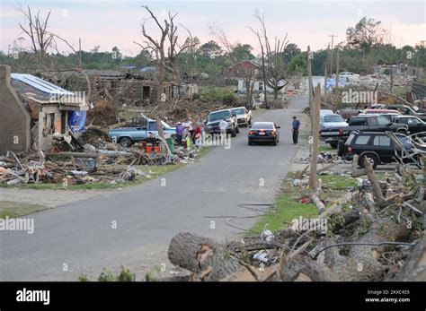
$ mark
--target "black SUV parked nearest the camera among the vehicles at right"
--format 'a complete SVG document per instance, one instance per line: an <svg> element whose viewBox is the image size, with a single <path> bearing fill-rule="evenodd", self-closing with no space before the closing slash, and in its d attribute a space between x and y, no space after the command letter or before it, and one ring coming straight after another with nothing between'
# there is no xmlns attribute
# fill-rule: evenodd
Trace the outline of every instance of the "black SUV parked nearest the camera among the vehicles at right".
<svg viewBox="0 0 426 311"><path fill-rule="evenodd" d="M395 134L403 143L407 151L412 151L413 145L404 134ZM395 145L383 132L352 132L344 145L338 149L339 156L352 160L355 154L359 155L358 165L363 167L364 157L367 157L373 168L378 164L395 162ZM410 160L404 160L404 162Z"/></svg>

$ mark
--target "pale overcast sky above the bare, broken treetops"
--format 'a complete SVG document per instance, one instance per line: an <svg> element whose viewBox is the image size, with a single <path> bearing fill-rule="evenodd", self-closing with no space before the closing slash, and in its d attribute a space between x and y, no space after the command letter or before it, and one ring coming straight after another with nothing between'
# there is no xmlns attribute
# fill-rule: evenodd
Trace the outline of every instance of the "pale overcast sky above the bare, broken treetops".
<svg viewBox="0 0 426 311"><path fill-rule="evenodd" d="M138 54L134 40L141 42L140 25L147 17L142 4L147 4L161 15L178 13L176 21L191 30L201 43L213 39L209 25L220 25L233 42L250 43L258 48L253 33L247 27L258 27L253 15L262 10L271 35L282 37L286 32L290 42L306 50L325 48L334 34L334 42L345 39L348 27L362 16L381 21L389 30L397 47L415 45L426 39L426 2L415 1L138 1L138 0L0 0L0 49L7 52L13 40L22 37L19 22L23 22L19 8L31 6L42 14L51 11L50 30L67 39L75 47L78 38L82 48L100 46L111 51L117 46L125 55ZM155 33L148 22L147 30ZM185 32L181 33L186 37ZM29 47L28 39L22 48ZM66 48L62 48L66 51ZM256 50L254 51L256 54Z"/></svg>

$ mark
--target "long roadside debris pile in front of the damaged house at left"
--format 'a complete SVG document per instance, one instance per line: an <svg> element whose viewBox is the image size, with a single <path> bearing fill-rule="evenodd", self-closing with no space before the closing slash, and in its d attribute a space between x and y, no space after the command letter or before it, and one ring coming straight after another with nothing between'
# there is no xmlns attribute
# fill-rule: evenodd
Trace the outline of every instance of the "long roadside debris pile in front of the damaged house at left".
<svg viewBox="0 0 426 311"><path fill-rule="evenodd" d="M159 152L147 153L138 145L123 148L96 134L92 137L96 147L67 133L53 136L52 149L46 154L38 151L17 156L8 151L0 157L0 184L117 184L151 176L138 166L191 163L198 158L199 151L191 148L179 148L172 154L160 143Z"/></svg>

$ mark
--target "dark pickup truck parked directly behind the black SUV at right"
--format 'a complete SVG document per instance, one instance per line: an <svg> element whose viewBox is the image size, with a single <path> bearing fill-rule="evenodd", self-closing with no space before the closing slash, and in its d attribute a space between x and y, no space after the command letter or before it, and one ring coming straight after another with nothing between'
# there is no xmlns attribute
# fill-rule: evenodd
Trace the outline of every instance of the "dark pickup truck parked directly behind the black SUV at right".
<svg viewBox="0 0 426 311"><path fill-rule="evenodd" d="M336 145L340 140L343 142L348 139L353 131L369 131L369 132L386 132L392 131L395 133L409 134L408 126L392 123L381 115L359 115L351 117L348 121L348 126L340 128L329 128L321 130L321 139L330 145Z"/></svg>

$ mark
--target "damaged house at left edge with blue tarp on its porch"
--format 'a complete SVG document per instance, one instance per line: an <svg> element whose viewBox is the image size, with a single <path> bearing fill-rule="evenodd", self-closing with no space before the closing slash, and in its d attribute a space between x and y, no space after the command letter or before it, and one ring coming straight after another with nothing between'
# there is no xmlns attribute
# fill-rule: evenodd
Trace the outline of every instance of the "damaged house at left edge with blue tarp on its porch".
<svg viewBox="0 0 426 311"><path fill-rule="evenodd" d="M5 116L18 116L4 117L5 122L0 125L4 137L0 153L28 151L30 146L50 151L54 136L84 128L85 111L89 108L84 96L31 74L10 73L9 66L1 65L0 73L0 107ZM12 143L13 139L20 143L11 145L11 139Z"/></svg>

